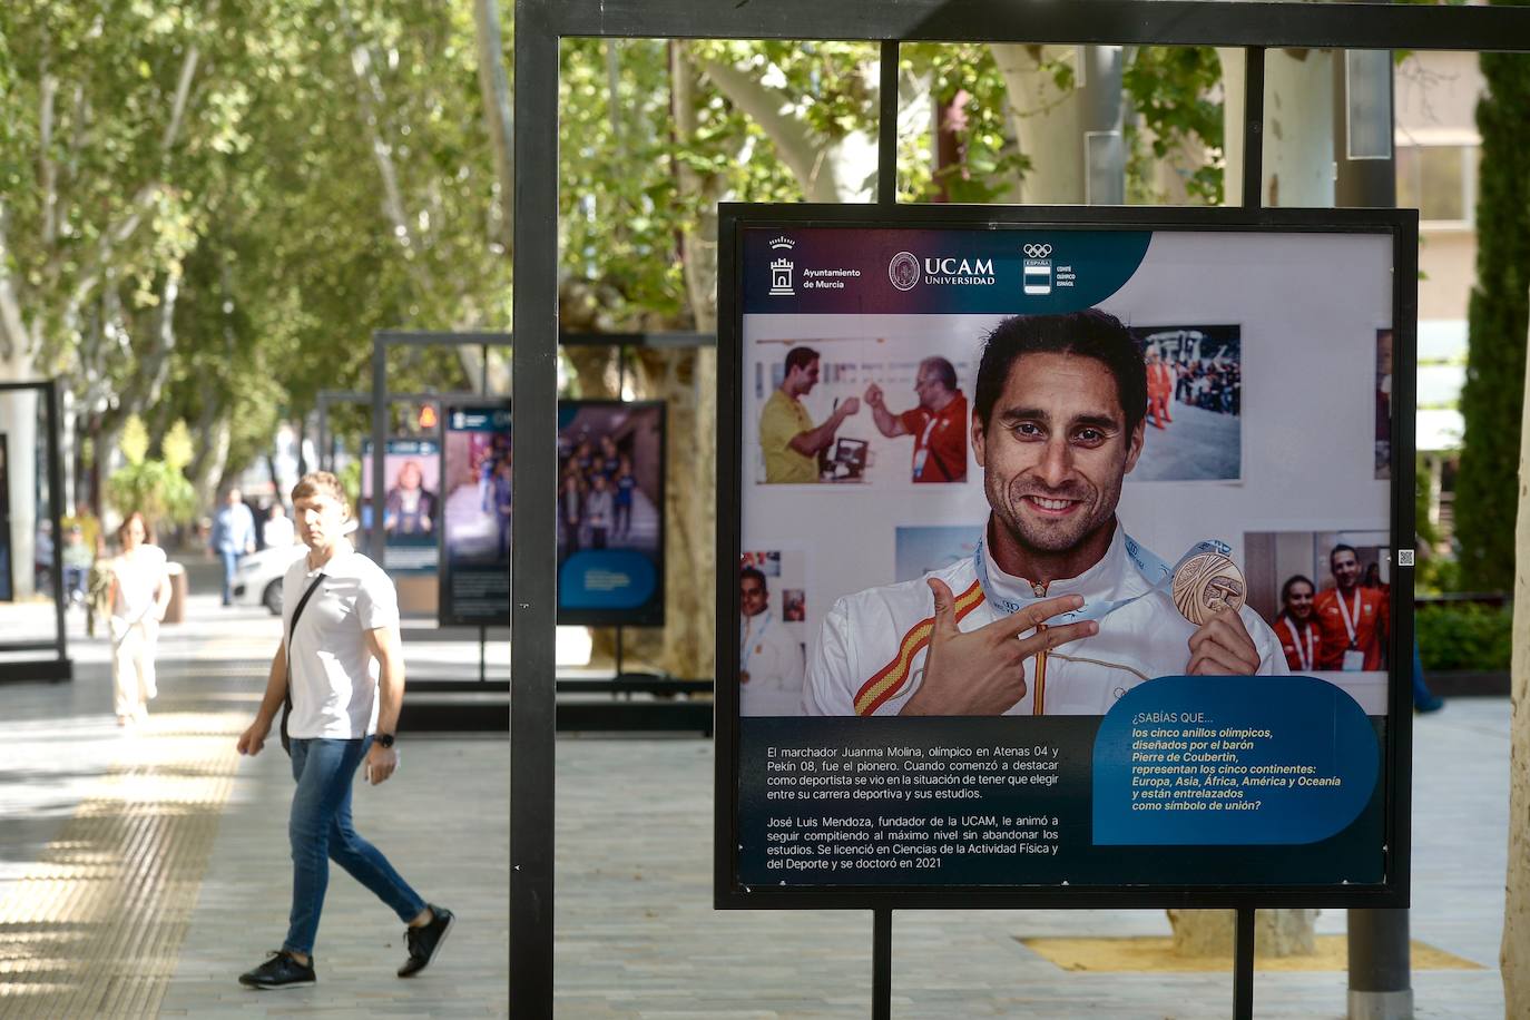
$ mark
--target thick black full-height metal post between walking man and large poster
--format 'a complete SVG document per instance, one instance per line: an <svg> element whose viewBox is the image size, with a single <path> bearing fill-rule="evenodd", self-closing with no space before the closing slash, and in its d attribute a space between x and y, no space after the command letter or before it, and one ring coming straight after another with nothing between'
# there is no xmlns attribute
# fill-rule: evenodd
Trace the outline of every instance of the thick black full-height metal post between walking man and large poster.
<svg viewBox="0 0 1530 1020"><path fill-rule="evenodd" d="M516 408L513 479L557 483L558 37L557 0L516 0ZM552 827L557 699L557 505L520 500L513 521L509 618L509 1002L552 1015ZM519 578L519 584L514 583Z"/></svg>

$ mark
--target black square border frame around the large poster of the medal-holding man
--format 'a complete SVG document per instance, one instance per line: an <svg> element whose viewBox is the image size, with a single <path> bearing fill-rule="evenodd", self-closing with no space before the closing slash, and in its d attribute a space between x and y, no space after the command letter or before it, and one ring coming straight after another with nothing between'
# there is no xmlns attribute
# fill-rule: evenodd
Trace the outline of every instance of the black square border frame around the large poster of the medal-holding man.
<svg viewBox="0 0 1530 1020"><path fill-rule="evenodd" d="M742 229L806 229L814 226L947 228L947 229L1181 229L1198 232L1279 229L1282 232L1366 232L1392 237L1394 280L1417 278L1418 217L1412 210L1238 210L1238 208L1056 208L981 205L903 205L897 211L866 205L722 205L718 251L718 563L737 563L742 551L742 393L739 355L742 315L737 306ZM1392 547L1411 549L1414 535L1414 414L1415 287L1392 294ZM1014 885L1014 887L745 887L734 873L739 844L739 586L730 570L718 570L718 720L715 757L715 872L719 908L883 908L897 907L1406 907L1412 763L1412 570L1392 580L1389 636L1388 728L1385 757L1386 881L1380 885Z"/></svg>

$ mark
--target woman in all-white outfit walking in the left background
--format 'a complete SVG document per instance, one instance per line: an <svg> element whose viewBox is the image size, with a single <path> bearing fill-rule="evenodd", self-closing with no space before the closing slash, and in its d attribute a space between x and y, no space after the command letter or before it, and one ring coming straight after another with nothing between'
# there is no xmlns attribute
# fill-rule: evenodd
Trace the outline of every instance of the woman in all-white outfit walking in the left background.
<svg viewBox="0 0 1530 1020"><path fill-rule="evenodd" d="M170 604L165 551L148 544L144 515L133 511L116 531L122 552L112 561L112 691L116 725L148 714L155 687L155 642Z"/></svg>

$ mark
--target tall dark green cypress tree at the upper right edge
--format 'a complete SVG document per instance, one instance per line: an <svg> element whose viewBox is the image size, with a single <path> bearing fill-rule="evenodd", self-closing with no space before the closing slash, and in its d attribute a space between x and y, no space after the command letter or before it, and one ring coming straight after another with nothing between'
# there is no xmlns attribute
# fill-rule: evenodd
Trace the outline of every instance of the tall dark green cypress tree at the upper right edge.
<svg viewBox="0 0 1530 1020"><path fill-rule="evenodd" d="M1499 0L1501 2L1501 0ZM1524 0L1516 0L1516 6ZM1455 531L1461 584L1512 590L1530 317L1530 57L1483 54L1487 92L1476 104L1483 161L1476 193L1476 286L1461 388L1464 436Z"/></svg>

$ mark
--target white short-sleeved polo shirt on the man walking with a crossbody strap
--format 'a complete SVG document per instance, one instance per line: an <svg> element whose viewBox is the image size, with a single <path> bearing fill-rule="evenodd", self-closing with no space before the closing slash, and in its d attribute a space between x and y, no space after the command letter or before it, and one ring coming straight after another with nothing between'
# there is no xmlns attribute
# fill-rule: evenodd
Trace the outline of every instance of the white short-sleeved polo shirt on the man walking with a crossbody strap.
<svg viewBox="0 0 1530 1020"><path fill-rule="evenodd" d="M292 630L292 612L323 572ZM291 635L292 714L288 733L300 740L356 740L376 729L378 662L366 632L398 627L398 593L376 563L355 551L337 552L321 570L308 557L282 581L282 622Z"/></svg>

